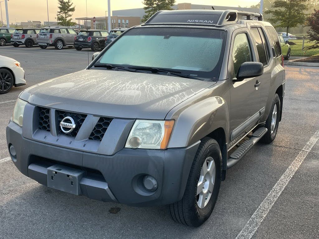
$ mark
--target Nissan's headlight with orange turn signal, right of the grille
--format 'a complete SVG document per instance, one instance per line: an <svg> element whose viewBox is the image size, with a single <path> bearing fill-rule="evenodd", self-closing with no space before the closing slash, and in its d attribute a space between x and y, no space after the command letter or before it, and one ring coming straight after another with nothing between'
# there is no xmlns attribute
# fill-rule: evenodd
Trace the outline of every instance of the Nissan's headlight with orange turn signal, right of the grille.
<svg viewBox="0 0 319 239"><path fill-rule="evenodd" d="M166 149L174 120L136 120L125 148Z"/></svg>

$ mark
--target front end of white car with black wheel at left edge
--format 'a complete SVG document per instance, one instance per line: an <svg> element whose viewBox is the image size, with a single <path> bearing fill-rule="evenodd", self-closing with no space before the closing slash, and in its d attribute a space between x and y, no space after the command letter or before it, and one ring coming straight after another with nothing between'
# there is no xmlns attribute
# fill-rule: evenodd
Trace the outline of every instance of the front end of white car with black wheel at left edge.
<svg viewBox="0 0 319 239"><path fill-rule="evenodd" d="M26 85L20 62L0 55L0 94L8 93L12 86Z"/></svg>

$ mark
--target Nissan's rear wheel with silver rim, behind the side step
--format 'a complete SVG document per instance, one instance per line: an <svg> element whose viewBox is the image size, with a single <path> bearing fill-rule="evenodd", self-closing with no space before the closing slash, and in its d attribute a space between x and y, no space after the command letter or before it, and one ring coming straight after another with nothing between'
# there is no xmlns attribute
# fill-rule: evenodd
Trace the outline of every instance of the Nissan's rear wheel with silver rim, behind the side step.
<svg viewBox="0 0 319 239"><path fill-rule="evenodd" d="M276 93L274 99L272 100L270 113L266 120L265 127L268 129L268 131L262 138L263 143L269 144L276 138L280 119L280 109L280 99Z"/></svg>

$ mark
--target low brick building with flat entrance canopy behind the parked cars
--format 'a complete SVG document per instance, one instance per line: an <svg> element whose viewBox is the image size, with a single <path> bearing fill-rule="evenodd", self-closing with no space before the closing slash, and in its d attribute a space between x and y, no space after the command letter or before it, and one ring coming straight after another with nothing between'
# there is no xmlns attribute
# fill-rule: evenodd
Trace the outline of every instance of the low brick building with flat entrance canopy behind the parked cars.
<svg viewBox="0 0 319 239"><path fill-rule="evenodd" d="M100 29L100 30L112 30L116 27L132 27L141 24L140 17L127 17L127 16L111 16L111 28L108 29L108 17L95 17L95 26L93 24L93 18L75 18L78 21L78 25L84 25L84 28L88 29ZM82 21L82 22L81 22ZM106 27L105 27L106 26Z"/></svg>

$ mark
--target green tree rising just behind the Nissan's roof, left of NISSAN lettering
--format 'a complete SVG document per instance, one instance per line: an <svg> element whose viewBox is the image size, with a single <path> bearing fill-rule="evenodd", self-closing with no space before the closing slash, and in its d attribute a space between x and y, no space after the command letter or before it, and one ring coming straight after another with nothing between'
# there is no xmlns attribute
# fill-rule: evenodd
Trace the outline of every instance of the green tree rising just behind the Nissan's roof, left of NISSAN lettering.
<svg viewBox="0 0 319 239"><path fill-rule="evenodd" d="M144 0L145 15L142 18L142 22L146 22L155 12L160 10L173 10L172 6L175 4L175 0Z"/></svg>

